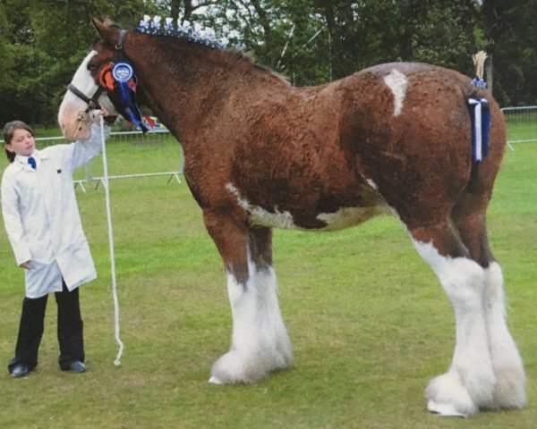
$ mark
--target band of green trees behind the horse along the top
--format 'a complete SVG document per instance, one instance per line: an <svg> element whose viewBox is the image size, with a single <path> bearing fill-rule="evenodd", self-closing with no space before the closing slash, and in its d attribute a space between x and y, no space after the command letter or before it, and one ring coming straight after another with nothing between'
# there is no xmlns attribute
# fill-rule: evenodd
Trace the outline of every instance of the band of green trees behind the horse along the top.
<svg viewBox="0 0 537 429"><path fill-rule="evenodd" d="M0 123L54 123L90 18L135 27L143 14L212 27L297 86L394 61L471 75L484 48L500 104L537 104L537 0L3 0Z"/></svg>

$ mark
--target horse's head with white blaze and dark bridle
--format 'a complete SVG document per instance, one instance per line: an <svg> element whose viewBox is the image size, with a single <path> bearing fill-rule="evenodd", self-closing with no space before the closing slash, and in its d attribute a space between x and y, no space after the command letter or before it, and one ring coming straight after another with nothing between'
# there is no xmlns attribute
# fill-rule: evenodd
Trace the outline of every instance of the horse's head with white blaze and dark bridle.
<svg viewBox="0 0 537 429"><path fill-rule="evenodd" d="M58 113L58 122L65 139L90 137L91 109L101 106L110 114L118 114L107 95L106 82L101 81L100 76L103 68L114 57L119 29L108 20L103 23L93 19L93 25L98 30L100 38L74 73Z"/></svg>

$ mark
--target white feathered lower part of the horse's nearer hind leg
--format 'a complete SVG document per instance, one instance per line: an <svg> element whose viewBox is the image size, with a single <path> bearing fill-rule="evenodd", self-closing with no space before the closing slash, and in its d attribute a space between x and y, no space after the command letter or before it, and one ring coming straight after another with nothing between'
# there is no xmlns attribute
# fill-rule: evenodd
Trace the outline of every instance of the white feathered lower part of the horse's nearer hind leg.
<svg viewBox="0 0 537 429"><path fill-rule="evenodd" d="M439 276L456 318L456 347L447 374L430 381L425 391L430 411L470 416L492 400L496 377L492 370L483 302L485 273L465 257L442 257L431 243L414 246Z"/></svg>

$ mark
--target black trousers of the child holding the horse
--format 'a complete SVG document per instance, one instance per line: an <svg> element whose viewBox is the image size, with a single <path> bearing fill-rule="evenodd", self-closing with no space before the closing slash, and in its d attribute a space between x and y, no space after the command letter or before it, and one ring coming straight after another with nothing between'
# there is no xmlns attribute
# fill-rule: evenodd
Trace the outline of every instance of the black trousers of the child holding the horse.
<svg viewBox="0 0 537 429"><path fill-rule="evenodd" d="M36 299L24 298L22 301L15 357L7 366L10 373L18 364L28 366L30 370L38 365L38 349L43 336L47 299L48 295L45 295ZM70 292L64 282L63 290L55 292L55 301L58 307L57 334L60 343L58 362L60 369L65 371L73 361L83 362L85 358L78 288Z"/></svg>

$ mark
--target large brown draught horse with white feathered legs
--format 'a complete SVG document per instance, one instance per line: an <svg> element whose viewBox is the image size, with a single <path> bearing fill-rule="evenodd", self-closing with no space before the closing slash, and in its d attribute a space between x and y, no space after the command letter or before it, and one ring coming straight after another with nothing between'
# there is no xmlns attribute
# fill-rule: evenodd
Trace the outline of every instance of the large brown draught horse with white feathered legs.
<svg viewBox="0 0 537 429"><path fill-rule="evenodd" d="M138 101L183 145L184 178L224 262L233 315L230 348L209 383L257 383L293 365L273 228L336 231L391 214L455 311L452 363L428 383L427 408L471 416L524 407L524 366L487 239L507 139L489 93L425 63L385 63L294 88L240 52L93 24L99 37L74 73L58 122L65 138L84 139L92 105L119 112L99 79L119 55L135 71ZM475 94L490 104L489 153L480 162L467 104Z"/></svg>

